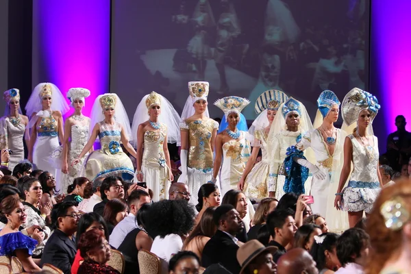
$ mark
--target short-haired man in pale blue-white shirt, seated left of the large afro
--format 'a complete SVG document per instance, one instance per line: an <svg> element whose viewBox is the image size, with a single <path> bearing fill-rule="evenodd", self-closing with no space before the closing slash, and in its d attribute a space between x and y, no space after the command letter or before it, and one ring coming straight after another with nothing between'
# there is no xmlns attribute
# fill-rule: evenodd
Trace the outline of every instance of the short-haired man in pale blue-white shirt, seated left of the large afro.
<svg viewBox="0 0 411 274"><path fill-rule="evenodd" d="M132 194L127 197L129 213L123 221L120 221L114 227L112 234L110 234L110 245L112 247L118 249L125 236L138 227L138 222L136 222L137 212L145 203L151 203L151 199L149 193L144 190L133 190Z"/></svg>

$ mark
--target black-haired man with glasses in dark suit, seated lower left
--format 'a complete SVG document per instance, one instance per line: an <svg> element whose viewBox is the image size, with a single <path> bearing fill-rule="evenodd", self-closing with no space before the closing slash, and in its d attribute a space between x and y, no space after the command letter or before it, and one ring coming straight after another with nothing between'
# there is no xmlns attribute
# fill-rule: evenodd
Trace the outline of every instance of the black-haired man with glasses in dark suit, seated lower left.
<svg viewBox="0 0 411 274"><path fill-rule="evenodd" d="M71 273L71 265L77 252L73 235L77 231L80 216L75 201L64 201L53 207L51 223L54 232L47 240L40 266L47 263L57 267L64 274Z"/></svg>

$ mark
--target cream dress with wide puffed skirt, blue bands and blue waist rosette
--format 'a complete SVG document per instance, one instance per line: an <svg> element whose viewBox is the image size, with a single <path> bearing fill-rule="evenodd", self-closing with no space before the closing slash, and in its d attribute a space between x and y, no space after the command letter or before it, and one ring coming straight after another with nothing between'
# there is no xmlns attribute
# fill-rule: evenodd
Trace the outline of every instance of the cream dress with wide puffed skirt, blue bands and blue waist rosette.
<svg viewBox="0 0 411 274"><path fill-rule="evenodd" d="M101 121L99 139L101 149L92 151L86 160L86 177L92 181L116 173L134 175L132 160L121 149L121 125L108 125Z"/></svg>

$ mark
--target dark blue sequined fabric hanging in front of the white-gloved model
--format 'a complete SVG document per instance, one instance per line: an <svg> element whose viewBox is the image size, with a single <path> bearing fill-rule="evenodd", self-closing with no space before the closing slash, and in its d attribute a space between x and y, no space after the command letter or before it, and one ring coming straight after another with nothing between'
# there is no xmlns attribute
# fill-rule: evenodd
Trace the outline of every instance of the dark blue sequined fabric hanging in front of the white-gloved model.
<svg viewBox="0 0 411 274"><path fill-rule="evenodd" d="M302 158L304 157L303 151L299 151L297 147L292 146L288 147L286 152L286 159L284 160L284 171L286 175L286 182L284 182L284 192L293 192L297 195L303 194L305 192L304 184L308 178L308 168L306 166L301 166L293 159L295 157Z"/></svg>

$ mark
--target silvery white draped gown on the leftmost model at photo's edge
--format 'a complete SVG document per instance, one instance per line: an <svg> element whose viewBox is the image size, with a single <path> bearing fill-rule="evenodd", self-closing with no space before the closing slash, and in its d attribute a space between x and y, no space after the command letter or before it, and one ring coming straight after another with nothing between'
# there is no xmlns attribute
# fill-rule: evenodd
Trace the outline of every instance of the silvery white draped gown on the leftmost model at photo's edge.
<svg viewBox="0 0 411 274"><path fill-rule="evenodd" d="M25 125L21 121L17 123L16 119L10 119L8 116L3 116L0 119L0 150L10 149L13 151L10 154L8 166L10 171L13 171L14 166L24 159L24 133Z"/></svg>

